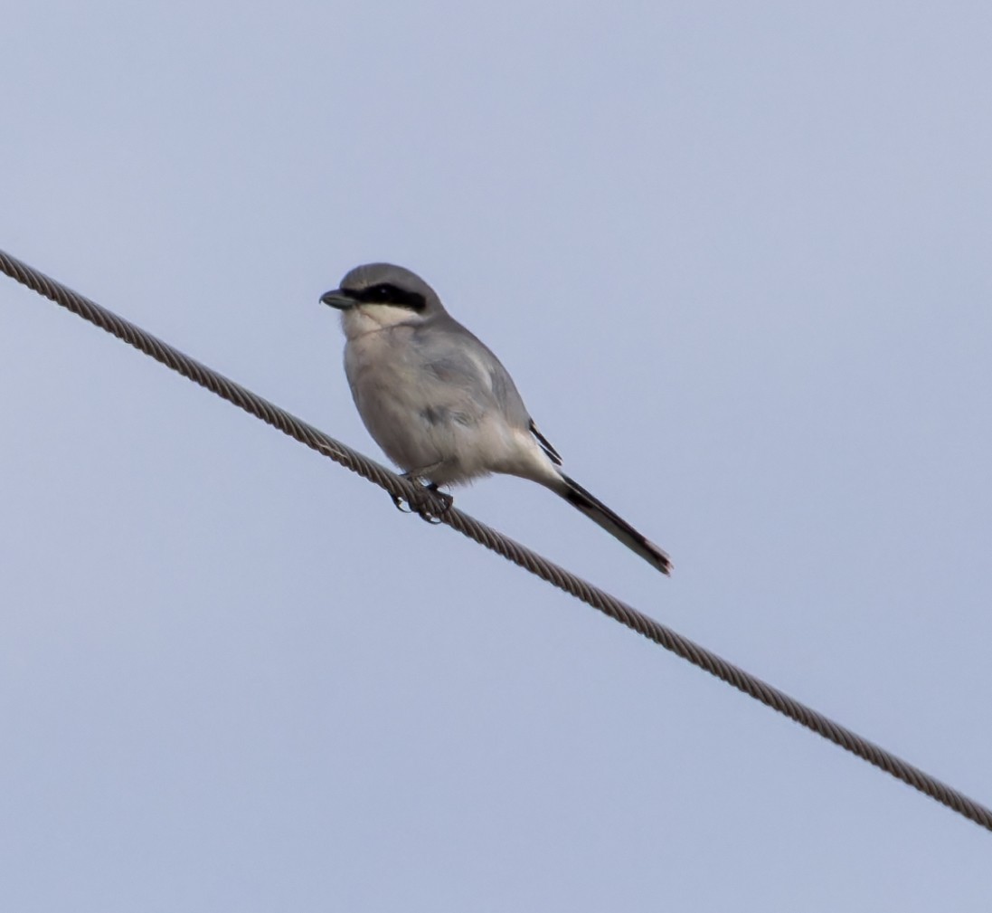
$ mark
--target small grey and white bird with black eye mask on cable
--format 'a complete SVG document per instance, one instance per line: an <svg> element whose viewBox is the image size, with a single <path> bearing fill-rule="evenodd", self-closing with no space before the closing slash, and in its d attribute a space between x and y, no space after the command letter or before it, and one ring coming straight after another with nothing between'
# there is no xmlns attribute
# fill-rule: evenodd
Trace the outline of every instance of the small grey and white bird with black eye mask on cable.
<svg viewBox="0 0 992 913"><path fill-rule="evenodd" d="M529 479L671 574L662 549L565 475L510 373L420 276L367 263L320 302L341 312L344 371L358 414L408 478L434 491L492 473Z"/></svg>

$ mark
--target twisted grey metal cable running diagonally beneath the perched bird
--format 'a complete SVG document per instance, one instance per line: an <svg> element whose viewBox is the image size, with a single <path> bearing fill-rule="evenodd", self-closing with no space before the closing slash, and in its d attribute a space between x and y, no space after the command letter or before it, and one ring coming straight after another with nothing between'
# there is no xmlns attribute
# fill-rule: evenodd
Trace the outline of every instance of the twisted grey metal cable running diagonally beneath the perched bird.
<svg viewBox="0 0 992 913"><path fill-rule="evenodd" d="M992 810L945 783L926 771L904 761L890 751L858 735L829 717L806 707L785 692L763 682L743 669L727 662L715 653L682 637L668 626L656 621L604 590L593 587L553 562L531 551L513 539L480 523L474 517L449 507L421 485L415 484L390 471L374 460L351 450L329 438L317 429L270 403L216 371L174 348L139 326L118 317L88 298L73 292L61 283L40 273L10 254L0 250L0 270L22 285L51 299L56 304L78 315L83 320L105 329L139 351L178 371L194 383L205 387L229 403L279 429L291 438L307 445L311 450L330 457L335 462L357 472L388 491L394 498L406 500L423 517L439 519L469 539L485 546L512 561L531 574L554 587L581 599L593 608L625 624L649 640L671 650L682 659L705 670L738 691L743 692L780 714L794 719L823 738L846 751L856 754L904 783L919 790L931 799L946 806L987 831L992 831Z"/></svg>

